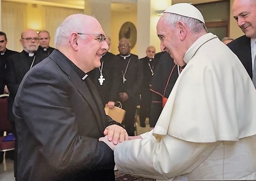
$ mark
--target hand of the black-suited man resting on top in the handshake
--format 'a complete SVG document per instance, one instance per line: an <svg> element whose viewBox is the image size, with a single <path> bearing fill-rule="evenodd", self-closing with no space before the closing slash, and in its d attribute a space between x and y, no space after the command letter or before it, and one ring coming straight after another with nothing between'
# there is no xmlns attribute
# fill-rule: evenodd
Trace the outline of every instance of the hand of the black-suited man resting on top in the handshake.
<svg viewBox="0 0 256 181"><path fill-rule="evenodd" d="M124 140L129 140L127 131L118 125L107 126L104 130L104 135L107 136L108 141L112 141L113 144L118 144L118 141L121 143Z"/></svg>

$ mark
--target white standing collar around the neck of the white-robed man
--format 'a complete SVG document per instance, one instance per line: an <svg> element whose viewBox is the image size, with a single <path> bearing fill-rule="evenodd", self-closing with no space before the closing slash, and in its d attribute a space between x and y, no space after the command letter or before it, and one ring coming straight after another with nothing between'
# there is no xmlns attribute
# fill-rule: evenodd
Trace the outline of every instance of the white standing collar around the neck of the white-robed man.
<svg viewBox="0 0 256 181"><path fill-rule="evenodd" d="M183 57L183 61L187 64L192 57L194 56L196 50L206 41L217 37L216 35L212 33L206 33L203 36L199 37L187 50Z"/></svg>

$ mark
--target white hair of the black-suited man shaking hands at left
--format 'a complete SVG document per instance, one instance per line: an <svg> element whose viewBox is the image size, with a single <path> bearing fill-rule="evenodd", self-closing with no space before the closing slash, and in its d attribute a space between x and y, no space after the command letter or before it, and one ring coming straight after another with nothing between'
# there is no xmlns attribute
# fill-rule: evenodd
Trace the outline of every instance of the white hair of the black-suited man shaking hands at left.
<svg viewBox="0 0 256 181"><path fill-rule="evenodd" d="M84 17L82 14L73 14L67 17L57 28L55 33L55 47L58 49L59 45L68 45L69 36L72 32L84 33ZM79 35L82 39L86 39L86 35Z"/></svg>

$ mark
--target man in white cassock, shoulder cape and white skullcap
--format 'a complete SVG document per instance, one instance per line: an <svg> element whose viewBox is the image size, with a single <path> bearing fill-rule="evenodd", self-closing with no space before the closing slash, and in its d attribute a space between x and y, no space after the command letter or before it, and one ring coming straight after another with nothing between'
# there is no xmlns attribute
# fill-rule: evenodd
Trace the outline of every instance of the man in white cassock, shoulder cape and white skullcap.
<svg viewBox="0 0 256 181"><path fill-rule="evenodd" d="M157 23L182 70L154 130L114 150L120 172L159 180L256 179L256 90L237 56L179 3ZM139 138L139 139L137 139Z"/></svg>

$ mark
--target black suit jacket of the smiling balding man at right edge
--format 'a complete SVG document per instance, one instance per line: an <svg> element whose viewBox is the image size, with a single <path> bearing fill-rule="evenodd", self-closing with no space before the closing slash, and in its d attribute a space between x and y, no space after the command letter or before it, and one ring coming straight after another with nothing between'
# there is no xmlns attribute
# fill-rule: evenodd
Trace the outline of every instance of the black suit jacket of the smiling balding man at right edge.
<svg viewBox="0 0 256 181"><path fill-rule="evenodd" d="M240 59L251 79L253 78L253 69L251 62L251 39L241 36L228 44L228 47Z"/></svg>

